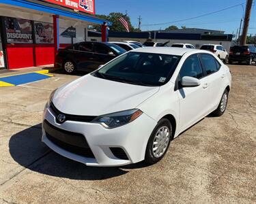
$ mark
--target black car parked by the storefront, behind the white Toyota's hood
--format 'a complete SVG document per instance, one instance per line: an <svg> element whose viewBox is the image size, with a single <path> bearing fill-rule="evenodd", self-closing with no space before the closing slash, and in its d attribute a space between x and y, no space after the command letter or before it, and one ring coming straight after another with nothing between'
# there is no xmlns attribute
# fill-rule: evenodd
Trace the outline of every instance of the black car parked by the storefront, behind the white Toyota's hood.
<svg viewBox="0 0 256 204"><path fill-rule="evenodd" d="M74 73L76 70L94 71L125 52L126 50L115 44L81 42L60 49L55 58L55 67L61 67L67 73Z"/></svg>

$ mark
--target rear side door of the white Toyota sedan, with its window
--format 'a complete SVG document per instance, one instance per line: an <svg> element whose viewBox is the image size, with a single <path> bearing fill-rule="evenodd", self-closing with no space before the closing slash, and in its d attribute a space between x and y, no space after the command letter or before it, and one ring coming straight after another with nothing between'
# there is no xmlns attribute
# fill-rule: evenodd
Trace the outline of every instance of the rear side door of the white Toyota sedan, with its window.
<svg viewBox="0 0 256 204"><path fill-rule="evenodd" d="M212 111L221 100L227 75L225 69L221 69L223 68L221 67L221 63L219 63L212 54L201 53L199 56L203 69L205 70L205 79L208 81L208 89L210 92L209 106L210 111Z"/></svg>

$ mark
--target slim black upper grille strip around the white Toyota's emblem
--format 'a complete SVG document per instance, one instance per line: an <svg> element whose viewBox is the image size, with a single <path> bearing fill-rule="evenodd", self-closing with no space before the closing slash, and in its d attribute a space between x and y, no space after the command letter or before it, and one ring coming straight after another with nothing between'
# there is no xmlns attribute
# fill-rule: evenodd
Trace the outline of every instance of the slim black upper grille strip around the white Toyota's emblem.
<svg viewBox="0 0 256 204"><path fill-rule="evenodd" d="M79 121L79 122L91 122L97 117L97 116L79 116L79 115L62 113L57 109L57 107L55 107L53 102L51 102L50 104L50 109L51 109L51 112L55 115L55 118L57 118L59 114L63 114L66 116L66 120Z"/></svg>

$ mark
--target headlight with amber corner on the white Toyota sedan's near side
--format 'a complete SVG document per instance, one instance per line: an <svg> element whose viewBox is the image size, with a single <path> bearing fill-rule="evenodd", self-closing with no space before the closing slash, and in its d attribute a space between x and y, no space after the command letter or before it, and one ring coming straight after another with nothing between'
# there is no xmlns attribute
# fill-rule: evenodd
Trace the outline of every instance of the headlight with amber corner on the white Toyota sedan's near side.
<svg viewBox="0 0 256 204"><path fill-rule="evenodd" d="M92 122L100 123L107 129L113 129L124 124L132 122L143 112L140 109L128 109L123 112L116 112L113 114L106 114L104 116L98 116Z"/></svg>

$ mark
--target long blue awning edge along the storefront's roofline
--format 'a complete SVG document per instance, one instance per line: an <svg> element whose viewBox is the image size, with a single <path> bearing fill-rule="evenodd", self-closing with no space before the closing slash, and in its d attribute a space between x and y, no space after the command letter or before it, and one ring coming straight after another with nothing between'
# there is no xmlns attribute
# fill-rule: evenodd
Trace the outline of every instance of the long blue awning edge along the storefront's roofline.
<svg viewBox="0 0 256 204"><path fill-rule="evenodd" d="M31 10L38 10L40 12L46 12L50 14L55 14L59 16L66 16L68 18L74 18L79 20L85 20L87 22L93 22L96 24L104 24L107 23L108 26L111 26L112 22L107 20L102 20L100 18L96 18L94 16L89 16L86 14L77 14L75 12L68 11L58 6L51 6L49 7L49 3L43 2L35 2L35 1L25 1L25 0L0 0L0 3L7 4L7 5L14 5L18 7L25 7Z"/></svg>

